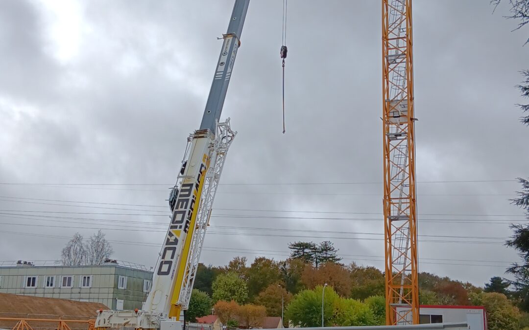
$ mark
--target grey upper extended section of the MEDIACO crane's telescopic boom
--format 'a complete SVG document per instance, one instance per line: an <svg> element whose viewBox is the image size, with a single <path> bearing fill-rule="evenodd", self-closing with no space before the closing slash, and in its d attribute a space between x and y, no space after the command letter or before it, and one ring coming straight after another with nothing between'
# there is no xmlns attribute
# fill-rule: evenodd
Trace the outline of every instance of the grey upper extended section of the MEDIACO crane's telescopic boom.
<svg viewBox="0 0 529 330"><path fill-rule="evenodd" d="M215 69L215 76L209 90L209 97L204 109L204 116L200 123L200 129L209 129L215 134L216 123L220 121L222 107L224 106L224 99L230 78L233 70L233 63L235 56L240 46L240 37L244 19L248 12L248 5L250 0L236 0L233 6L233 12L225 35L223 35L224 42L222 44L221 54L218 56L217 67Z"/></svg>

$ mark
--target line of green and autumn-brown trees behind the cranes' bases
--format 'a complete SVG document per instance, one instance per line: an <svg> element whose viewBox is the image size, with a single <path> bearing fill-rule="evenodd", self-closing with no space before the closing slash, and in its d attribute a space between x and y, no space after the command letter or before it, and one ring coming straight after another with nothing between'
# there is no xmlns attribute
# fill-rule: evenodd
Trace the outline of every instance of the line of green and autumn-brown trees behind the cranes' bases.
<svg viewBox="0 0 529 330"><path fill-rule="evenodd" d="M199 264L186 319L193 322L211 314L213 308L221 322L230 326L257 326L265 316L281 316L282 312L285 326L288 320L304 327L321 326L323 286L327 284L326 326L385 324L384 273L354 262L344 265L338 257L316 262L316 253L321 253L318 246L329 247L327 254L336 256L331 242L294 242L285 260L257 257L249 263L245 257L235 257L222 267ZM515 292L501 277L492 277L484 287L428 272L419 273L418 279L423 305L483 305L491 330L529 326L527 311L518 308Z"/></svg>

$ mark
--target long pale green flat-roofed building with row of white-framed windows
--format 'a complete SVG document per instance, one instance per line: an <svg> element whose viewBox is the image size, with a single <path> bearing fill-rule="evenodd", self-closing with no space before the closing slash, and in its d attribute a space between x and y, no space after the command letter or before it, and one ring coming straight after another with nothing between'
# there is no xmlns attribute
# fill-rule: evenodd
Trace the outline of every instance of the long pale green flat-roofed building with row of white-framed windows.
<svg viewBox="0 0 529 330"><path fill-rule="evenodd" d="M110 309L141 308L151 287L152 271L135 263L106 261L101 266L0 262L0 293L89 301Z"/></svg>

